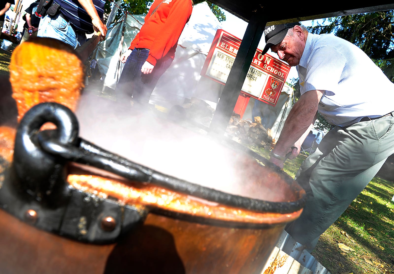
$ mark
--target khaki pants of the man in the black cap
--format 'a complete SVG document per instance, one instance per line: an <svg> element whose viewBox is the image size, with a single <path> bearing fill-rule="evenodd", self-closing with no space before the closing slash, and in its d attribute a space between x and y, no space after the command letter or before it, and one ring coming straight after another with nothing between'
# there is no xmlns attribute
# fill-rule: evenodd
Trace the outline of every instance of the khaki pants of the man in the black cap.
<svg viewBox="0 0 394 274"><path fill-rule="evenodd" d="M299 168L296 180L307 192L301 216L286 231L312 251L320 235L361 193L394 153L394 117L336 126Z"/></svg>

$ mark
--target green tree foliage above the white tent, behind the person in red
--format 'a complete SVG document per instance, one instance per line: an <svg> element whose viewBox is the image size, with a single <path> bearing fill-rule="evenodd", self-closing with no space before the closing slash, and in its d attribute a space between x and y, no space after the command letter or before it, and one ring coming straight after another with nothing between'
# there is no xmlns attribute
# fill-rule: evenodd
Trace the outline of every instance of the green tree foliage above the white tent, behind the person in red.
<svg viewBox="0 0 394 274"><path fill-rule="evenodd" d="M204 0L195 0L193 1L193 4L198 4L204 2ZM115 2L110 2L107 1L105 6L104 6L104 17L107 18L108 15L110 14L112 7ZM151 7L153 3L153 0L123 0L121 4L119 5L119 10L116 14L115 20L119 19L123 14L128 13L128 14L146 14L149 11L149 7ZM214 15L217 17L217 19L220 22L223 22L226 20L226 16L223 13L223 10L216 6L215 4L212 4L208 2L208 6L211 8L212 12Z"/></svg>

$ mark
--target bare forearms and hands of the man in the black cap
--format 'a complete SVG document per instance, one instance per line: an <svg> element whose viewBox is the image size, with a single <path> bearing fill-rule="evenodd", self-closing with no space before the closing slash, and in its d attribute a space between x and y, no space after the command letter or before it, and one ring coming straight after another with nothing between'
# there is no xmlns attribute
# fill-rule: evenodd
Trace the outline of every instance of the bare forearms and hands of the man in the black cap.
<svg viewBox="0 0 394 274"><path fill-rule="evenodd" d="M288 152L292 152L290 159L297 156L300 142L303 142L309 133L314 121L316 120L316 113L318 110L318 104L322 98L324 91L313 90L307 91L299 100L294 104L290 111L286 121L284 122L281 135L275 148L272 150L273 153L279 156L285 156ZM291 147L296 146L297 151L292 151ZM284 161L270 157L269 161L274 163L278 167L283 167Z"/></svg>

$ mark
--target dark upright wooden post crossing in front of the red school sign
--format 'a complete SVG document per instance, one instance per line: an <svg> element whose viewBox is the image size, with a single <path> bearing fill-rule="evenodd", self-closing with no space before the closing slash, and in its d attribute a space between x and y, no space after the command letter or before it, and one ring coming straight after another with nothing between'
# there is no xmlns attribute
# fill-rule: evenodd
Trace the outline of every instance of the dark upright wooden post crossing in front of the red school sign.
<svg viewBox="0 0 394 274"><path fill-rule="evenodd" d="M225 133L266 23L263 15L263 7L259 6L253 11L253 16L249 20L245 35L243 35L234 65L230 70L229 77L227 78L226 85L220 96L214 117L212 118L209 134L222 136Z"/></svg>

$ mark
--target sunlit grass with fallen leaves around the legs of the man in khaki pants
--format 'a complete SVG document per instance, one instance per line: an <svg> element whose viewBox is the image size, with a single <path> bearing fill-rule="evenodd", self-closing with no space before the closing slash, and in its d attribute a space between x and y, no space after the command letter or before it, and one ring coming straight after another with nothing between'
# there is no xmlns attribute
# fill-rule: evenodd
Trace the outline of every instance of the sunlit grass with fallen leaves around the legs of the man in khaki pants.
<svg viewBox="0 0 394 274"><path fill-rule="evenodd" d="M252 148L268 158L268 151ZM287 160L294 177L306 157ZM311 253L331 274L394 273L394 183L375 177L329 227Z"/></svg>

